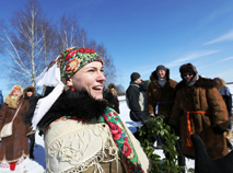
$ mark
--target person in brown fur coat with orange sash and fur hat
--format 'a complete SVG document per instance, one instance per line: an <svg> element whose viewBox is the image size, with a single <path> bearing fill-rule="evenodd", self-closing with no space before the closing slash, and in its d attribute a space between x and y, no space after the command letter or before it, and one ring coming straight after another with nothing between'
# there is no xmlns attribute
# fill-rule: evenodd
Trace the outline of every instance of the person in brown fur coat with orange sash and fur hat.
<svg viewBox="0 0 233 173"><path fill-rule="evenodd" d="M197 134L211 159L225 155L229 151L223 132L228 130L229 117L213 80L198 76L191 64L183 65L179 72L183 80L176 86L170 124L178 131L183 153L195 157L190 135Z"/></svg>

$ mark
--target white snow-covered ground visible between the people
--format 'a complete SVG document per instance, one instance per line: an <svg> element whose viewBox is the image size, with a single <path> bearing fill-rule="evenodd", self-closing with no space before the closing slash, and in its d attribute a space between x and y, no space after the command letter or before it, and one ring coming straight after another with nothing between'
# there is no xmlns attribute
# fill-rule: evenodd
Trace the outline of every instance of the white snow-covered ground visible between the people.
<svg viewBox="0 0 233 173"><path fill-rule="evenodd" d="M128 128L132 132L135 132L137 124L129 118L129 108L127 107L125 96L119 96L118 99L120 101L119 116L127 124ZM233 141L231 142L233 143ZM154 152L161 155L161 158L164 158L163 151L161 149L155 149ZM38 131L36 132L36 145L35 145L34 155L35 155L34 161L27 158L22 162L22 164L16 166L15 171L12 171L12 172L14 173L44 173L45 172L46 162L45 162L44 140L43 140L43 137L38 135ZM186 165L187 165L186 170L194 168L195 165L194 160L186 159ZM9 168L7 169L0 168L0 173L12 173L12 172L10 171Z"/></svg>

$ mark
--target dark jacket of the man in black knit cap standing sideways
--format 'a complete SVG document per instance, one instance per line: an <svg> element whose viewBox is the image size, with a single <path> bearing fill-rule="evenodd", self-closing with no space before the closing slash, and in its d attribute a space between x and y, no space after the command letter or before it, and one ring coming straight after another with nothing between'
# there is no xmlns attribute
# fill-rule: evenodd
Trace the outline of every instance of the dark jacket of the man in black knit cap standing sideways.
<svg viewBox="0 0 233 173"><path fill-rule="evenodd" d="M144 122L149 118L147 93L141 89L140 84L130 82L126 91L126 101L130 109L130 118L133 122Z"/></svg>

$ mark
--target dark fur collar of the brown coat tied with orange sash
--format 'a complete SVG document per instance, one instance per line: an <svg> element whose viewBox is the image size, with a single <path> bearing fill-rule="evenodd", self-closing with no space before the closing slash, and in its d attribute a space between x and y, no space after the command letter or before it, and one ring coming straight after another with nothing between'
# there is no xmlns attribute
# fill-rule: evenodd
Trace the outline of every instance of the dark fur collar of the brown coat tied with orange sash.
<svg viewBox="0 0 233 173"><path fill-rule="evenodd" d="M176 90L179 90L179 89L185 88L185 86L187 86L187 84L185 83L184 80L182 80L176 85ZM193 86L208 89L208 88L213 88L214 85L213 85L212 79L207 79L207 78L202 78L202 77L199 76L199 79L196 81L196 83Z"/></svg>

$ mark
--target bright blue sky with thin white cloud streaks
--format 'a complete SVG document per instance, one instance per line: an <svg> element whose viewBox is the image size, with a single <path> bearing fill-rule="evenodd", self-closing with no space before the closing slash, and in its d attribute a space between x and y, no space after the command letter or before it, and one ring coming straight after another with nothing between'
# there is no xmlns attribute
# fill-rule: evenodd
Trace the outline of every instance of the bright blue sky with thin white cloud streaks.
<svg viewBox="0 0 233 173"><path fill-rule="evenodd" d="M1 1L1 18L10 18L25 2ZM233 82L232 0L38 2L54 22L63 13L75 14L88 37L107 48L116 66L116 84L125 89L131 72L148 80L159 65L170 68L171 78L180 81L178 69L187 62L194 64L201 76Z"/></svg>

